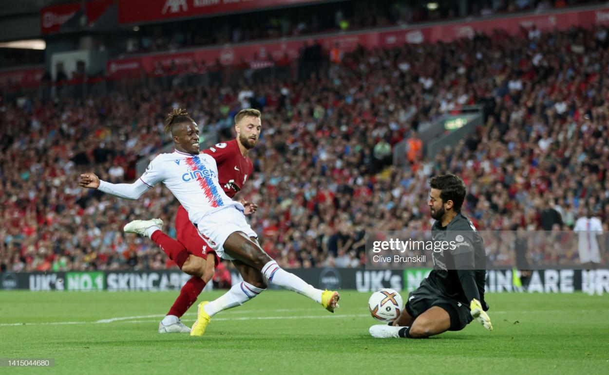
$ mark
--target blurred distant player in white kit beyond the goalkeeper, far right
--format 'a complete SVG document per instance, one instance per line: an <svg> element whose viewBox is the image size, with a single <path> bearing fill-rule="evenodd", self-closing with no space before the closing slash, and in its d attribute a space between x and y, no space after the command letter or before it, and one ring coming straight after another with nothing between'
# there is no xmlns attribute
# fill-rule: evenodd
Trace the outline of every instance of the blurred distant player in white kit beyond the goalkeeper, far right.
<svg viewBox="0 0 609 375"><path fill-rule="evenodd" d="M602 283L597 279L596 269L600 264L600 249L598 236L603 233L603 225L598 218L592 216L590 208L585 208L586 215L577 219L574 232L578 233L579 260L582 266L588 270L587 283L582 277L582 287L588 288L588 294L593 295L596 291L599 295L603 292ZM587 285L586 285L587 284Z"/></svg>

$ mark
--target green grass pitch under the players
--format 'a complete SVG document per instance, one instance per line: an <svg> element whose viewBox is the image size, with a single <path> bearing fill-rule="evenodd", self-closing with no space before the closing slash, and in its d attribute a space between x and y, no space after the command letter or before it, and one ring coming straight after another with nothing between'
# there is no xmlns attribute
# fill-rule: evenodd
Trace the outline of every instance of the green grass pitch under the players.
<svg viewBox="0 0 609 375"><path fill-rule="evenodd" d="M0 357L55 359L0 373L609 373L609 295L488 294L495 331L473 322L426 340L370 337L369 295L341 291L330 314L269 291L194 338L157 333L177 292L0 292Z"/></svg>

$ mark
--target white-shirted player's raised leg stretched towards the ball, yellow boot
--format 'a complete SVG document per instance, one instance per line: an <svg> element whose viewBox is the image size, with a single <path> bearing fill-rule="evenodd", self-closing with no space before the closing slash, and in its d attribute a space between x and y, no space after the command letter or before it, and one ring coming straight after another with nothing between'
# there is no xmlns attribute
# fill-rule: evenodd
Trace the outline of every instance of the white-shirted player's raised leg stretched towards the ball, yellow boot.
<svg viewBox="0 0 609 375"><path fill-rule="evenodd" d="M234 232L228 236L224 243L224 251L233 258L261 270L266 280L290 291L306 295L317 303L321 303L329 312L334 312L334 309L339 307L340 295L338 292L317 289L300 277L281 269L277 262L262 250L258 241L248 238L242 232Z"/></svg>

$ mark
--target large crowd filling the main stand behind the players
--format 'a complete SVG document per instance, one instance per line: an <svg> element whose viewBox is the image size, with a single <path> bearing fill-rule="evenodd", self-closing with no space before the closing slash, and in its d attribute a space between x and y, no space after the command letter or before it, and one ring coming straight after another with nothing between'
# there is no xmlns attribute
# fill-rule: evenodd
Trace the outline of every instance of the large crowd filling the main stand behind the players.
<svg viewBox="0 0 609 375"><path fill-rule="evenodd" d="M152 241L122 233L132 219L160 217L175 237L169 190L127 201L77 179L94 171L133 181L136 161L171 141L163 119L177 107L222 139L234 137L239 109L262 110L255 174L239 194L259 204L252 227L283 267L359 267L365 231L430 229L427 181L445 172L464 179L463 212L481 230L568 229L585 207L609 230L607 47L604 27L495 32L357 49L296 82L3 103L0 270L171 267ZM484 106L485 126L435 156L391 165L396 143L465 105ZM538 264L554 261L544 251Z"/></svg>

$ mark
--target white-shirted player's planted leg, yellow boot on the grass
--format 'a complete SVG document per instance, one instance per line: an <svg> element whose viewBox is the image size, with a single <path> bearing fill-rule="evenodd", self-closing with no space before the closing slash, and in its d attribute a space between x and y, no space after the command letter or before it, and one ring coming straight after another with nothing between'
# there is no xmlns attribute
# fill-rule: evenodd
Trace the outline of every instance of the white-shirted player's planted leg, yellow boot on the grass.
<svg viewBox="0 0 609 375"><path fill-rule="evenodd" d="M233 285L230 291L216 298L216 300L199 303L197 320L192 325L191 336L205 334L211 317L218 312L241 306L266 290L266 281L259 270L238 260L234 260L233 264L241 273L244 281Z"/></svg>

